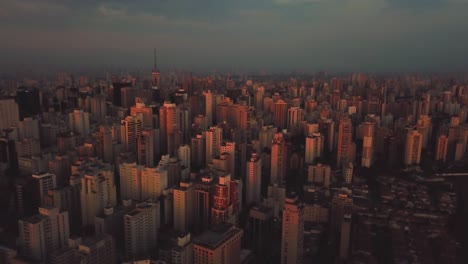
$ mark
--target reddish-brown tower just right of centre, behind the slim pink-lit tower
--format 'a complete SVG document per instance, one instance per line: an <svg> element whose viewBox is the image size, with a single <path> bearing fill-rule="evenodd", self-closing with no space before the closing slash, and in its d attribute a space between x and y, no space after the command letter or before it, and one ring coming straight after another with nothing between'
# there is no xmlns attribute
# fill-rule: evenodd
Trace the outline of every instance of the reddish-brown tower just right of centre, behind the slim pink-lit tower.
<svg viewBox="0 0 468 264"><path fill-rule="evenodd" d="M281 184L285 178L287 164L287 146L282 133L275 133L271 143L270 184Z"/></svg>

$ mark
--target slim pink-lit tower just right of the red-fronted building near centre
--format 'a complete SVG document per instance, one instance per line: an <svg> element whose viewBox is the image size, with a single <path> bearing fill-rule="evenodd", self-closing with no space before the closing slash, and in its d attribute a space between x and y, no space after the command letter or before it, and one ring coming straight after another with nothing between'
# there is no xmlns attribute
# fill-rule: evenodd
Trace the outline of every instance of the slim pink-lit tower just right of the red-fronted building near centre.
<svg viewBox="0 0 468 264"><path fill-rule="evenodd" d="M262 183L262 158L257 153L252 153L247 161L247 186L246 203L260 203Z"/></svg>

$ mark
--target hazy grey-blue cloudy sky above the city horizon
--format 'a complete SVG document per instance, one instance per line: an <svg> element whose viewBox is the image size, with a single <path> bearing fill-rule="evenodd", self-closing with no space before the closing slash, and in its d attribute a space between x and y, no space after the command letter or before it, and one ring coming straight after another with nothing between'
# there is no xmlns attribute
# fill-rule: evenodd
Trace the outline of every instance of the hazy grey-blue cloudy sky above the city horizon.
<svg viewBox="0 0 468 264"><path fill-rule="evenodd" d="M1 0L0 69L465 71L468 0Z"/></svg>

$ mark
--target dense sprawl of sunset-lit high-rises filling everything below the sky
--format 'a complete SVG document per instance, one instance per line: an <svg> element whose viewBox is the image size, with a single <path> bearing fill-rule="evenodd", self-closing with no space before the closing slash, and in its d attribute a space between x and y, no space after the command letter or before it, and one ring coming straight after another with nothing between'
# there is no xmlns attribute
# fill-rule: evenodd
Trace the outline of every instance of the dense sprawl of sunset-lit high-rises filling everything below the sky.
<svg viewBox="0 0 468 264"><path fill-rule="evenodd" d="M463 82L155 67L0 86L1 263L460 261Z"/></svg>

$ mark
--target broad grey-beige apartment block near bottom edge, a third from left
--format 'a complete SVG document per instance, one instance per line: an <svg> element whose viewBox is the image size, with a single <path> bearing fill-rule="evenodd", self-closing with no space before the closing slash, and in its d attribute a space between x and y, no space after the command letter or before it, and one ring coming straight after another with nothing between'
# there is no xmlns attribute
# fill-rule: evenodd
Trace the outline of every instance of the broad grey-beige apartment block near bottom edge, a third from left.
<svg viewBox="0 0 468 264"><path fill-rule="evenodd" d="M124 215L125 255L146 257L156 249L160 227L159 202L143 202Z"/></svg>

